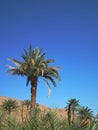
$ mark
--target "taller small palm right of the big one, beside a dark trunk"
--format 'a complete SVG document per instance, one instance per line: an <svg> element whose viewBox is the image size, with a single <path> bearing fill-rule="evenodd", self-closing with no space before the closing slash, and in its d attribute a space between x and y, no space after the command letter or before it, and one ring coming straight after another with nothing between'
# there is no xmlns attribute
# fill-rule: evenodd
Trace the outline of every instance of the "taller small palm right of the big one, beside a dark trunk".
<svg viewBox="0 0 98 130"><path fill-rule="evenodd" d="M77 107L79 106L79 100L76 99L70 99L68 100L68 105L70 104L70 109L71 109L71 113L72 113L72 123L74 122L74 118L75 118L75 111L77 109Z"/></svg>

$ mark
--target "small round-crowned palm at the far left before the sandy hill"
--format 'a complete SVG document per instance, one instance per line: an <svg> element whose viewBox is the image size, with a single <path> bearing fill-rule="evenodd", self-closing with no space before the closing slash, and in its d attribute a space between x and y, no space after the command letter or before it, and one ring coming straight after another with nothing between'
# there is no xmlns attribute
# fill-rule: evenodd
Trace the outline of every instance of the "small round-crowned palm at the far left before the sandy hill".
<svg viewBox="0 0 98 130"><path fill-rule="evenodd" d="M8 99L2 103L1 107L4 111L8 112L8 114L10 115L11 112L18 107L18 104L16 100Z"/></svg>

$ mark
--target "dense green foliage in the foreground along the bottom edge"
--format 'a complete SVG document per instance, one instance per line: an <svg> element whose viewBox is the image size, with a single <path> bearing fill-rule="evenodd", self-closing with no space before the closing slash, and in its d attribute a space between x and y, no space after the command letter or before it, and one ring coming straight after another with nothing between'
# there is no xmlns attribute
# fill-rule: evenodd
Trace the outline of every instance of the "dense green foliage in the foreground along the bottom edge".
<svg viewBox="0 0 98 130"><path fill-rule="evenodd" d="M93 119L89 125L80 122L77 117L69 125L68 120L58 117L55 111L42 113L36 106L23 122L19 122L13 115L6 117L4 112L0 112L0 130L98 130L98 120Z"/></svg>

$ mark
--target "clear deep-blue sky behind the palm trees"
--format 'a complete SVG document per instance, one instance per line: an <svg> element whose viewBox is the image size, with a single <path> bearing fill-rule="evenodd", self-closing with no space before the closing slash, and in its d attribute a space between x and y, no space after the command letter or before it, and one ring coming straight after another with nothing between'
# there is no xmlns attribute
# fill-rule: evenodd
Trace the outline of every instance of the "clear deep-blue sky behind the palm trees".
<svg viewBox="0 0 98 130"><path fill-rule="evenodd" d="M43 48L60 66L62 82L39 80L37 102L65 107L70 98L98 113L98 0L0 0L0 96L30 98L25 77L6 74L7 58Z"/></svg>

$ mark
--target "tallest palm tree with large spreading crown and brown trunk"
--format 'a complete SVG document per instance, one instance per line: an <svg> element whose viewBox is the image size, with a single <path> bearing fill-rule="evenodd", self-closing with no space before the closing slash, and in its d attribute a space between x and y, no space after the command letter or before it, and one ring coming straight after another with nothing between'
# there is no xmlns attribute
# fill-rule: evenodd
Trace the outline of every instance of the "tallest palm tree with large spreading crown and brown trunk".
<svg viewBox="0 0 98 130"><path fill-rule="evenodd" d="M42 49L33 49L30 45L29 50L24 50L22 54L23 61L16 59L10 59L16 67L9 66L8 73L12 75L21 75L27 77L26 85L31 83L31 107L36 104L36 92L37 83L39 77L43 77L44 81L48 85L50 90L49 82L52 82L56 86L55 78L60 80L58 74L59 67L49 66L49 63L53 63L54 60L46 59L46 53L42 53Z"/></svg>

